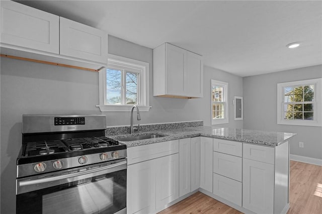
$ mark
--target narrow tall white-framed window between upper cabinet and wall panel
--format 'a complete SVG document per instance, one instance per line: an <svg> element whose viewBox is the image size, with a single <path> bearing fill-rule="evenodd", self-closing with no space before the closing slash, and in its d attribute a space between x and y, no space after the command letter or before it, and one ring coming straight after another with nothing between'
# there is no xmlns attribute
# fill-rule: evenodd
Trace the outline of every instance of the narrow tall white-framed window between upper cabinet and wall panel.
<svg viewBox="0 0 322 214"><path fill-rule="evenodd" d="M211 125L228 123L228 83L211 80Z"/></svg>

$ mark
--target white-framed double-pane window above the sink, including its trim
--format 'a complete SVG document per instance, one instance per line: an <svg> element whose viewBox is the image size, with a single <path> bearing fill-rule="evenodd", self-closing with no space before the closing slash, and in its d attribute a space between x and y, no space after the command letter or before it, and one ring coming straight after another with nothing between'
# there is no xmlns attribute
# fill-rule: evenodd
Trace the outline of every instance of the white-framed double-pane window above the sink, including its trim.
<svg viewBox="0 0 322 214"><path fill-rule="evenodd" d="M107 68L99 74L101 112L129 112L137 105L149 111L149 64L125 57L109 55Z"/></svg>

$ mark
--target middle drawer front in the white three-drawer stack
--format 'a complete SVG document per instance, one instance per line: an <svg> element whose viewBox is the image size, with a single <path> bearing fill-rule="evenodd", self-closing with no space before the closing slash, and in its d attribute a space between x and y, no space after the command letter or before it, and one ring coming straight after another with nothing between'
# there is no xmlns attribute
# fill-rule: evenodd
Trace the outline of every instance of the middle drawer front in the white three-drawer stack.
<svg viewBox="0 0 322 214"><path fill-rule="evenodd" d="M213 152L213 172L241 181L242 161L240 157Z"/></svg>

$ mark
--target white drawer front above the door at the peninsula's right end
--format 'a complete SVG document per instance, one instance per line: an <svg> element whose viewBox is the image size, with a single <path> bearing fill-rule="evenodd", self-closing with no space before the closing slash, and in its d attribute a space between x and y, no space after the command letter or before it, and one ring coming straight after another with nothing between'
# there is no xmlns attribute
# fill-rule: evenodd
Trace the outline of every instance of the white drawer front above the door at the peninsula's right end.
<svg viewBox="0 0 322 214"><path fill-rule="evenodd" d="M243 157L265 163L274 164L275 149L268 146L259 146L244 143Z"/></svg>

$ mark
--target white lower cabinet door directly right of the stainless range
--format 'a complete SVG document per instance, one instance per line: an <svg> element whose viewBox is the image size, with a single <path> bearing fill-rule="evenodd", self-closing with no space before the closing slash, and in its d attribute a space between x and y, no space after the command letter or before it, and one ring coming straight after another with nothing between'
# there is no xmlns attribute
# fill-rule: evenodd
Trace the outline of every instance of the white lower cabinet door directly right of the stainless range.
<svg viewBox="0 0 322 214"><path fill-rule="evenodd" d="M155 209L154 160L127 167L127 213L151 213Z"/></svg>

